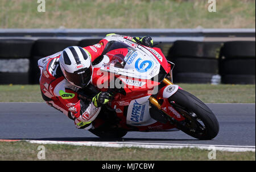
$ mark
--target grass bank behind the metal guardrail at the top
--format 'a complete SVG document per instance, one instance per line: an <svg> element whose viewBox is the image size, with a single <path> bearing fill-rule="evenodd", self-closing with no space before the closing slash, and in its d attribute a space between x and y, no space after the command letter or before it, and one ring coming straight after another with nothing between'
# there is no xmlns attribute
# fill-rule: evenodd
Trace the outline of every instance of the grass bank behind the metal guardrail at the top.
<svg viewBox="0 0 256 172"><path fill-rule="evenodd" d="M0 28L255 28L254 0L1 0Z"/></svg>

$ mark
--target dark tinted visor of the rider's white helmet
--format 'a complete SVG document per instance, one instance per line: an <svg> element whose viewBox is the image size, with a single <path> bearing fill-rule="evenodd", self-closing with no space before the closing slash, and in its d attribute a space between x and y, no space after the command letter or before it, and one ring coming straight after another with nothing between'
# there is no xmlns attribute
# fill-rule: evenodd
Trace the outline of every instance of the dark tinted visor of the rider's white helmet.
<svg viewBox="0 0 256 172"><path fill-rule="evenodd" d="M92 77L92 67L82 68L74 73L69 73L65 70L65 77L73 85L84 88L89 84Z"/></svg>

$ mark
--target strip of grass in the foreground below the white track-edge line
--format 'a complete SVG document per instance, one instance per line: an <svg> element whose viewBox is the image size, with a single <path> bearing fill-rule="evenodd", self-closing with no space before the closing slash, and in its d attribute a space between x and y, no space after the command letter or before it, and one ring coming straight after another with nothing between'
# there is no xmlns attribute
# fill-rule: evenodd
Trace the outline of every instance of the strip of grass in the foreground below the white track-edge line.
<svg viewBox="0 0 256 172"><path fill-rule="evenodd" d="M0 161L39 160L39 144L26 141L11 143L0 141ZM75 145L46 144L46 159L86 160L86 161L208 161L207 150L200 149L145 149L145 148L107 148ZM22 149L20 149L22 148ZM212 159L214 160L214 159ZM210 160L210 161L212 161ZM216 152L217 161L255 161L255 152Z"/></svg>

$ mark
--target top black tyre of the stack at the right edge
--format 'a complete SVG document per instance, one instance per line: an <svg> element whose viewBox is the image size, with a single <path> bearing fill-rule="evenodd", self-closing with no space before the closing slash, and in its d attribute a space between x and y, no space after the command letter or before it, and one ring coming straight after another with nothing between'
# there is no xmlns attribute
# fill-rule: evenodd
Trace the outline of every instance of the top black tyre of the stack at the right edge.
<svg viewBox="0 0 256 172"><path fill-rule="evenodd" d="M228 41L221 48L222 59L251 57L255 58L255 41Z"/></svg>

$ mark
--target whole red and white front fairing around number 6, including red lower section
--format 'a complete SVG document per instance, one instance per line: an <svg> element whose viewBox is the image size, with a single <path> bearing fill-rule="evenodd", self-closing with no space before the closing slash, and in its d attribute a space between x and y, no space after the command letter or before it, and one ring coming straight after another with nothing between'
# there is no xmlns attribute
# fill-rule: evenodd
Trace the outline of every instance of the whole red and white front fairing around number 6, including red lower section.
<svg viewBox="0 0 256 172"><path fill-rule="evenodd" d="M93 83L97 84L98 88L121 88L126 94L131 92L144 92L143 95L156 94L155 86L166 77L166 71L170 71L166 58L152 48L147 49L129 41L108 43L104 50L104 59L107 63L101 65L100 75L93 77ZM154 92L148 92L153 89ZM138 93L130 96L136 94Z"/></svg>

